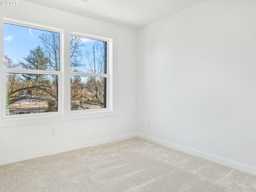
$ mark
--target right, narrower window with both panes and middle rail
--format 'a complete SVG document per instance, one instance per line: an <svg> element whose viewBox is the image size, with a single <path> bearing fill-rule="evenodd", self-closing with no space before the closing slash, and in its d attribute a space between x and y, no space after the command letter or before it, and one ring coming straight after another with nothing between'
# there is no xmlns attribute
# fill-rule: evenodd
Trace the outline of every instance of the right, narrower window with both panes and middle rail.
<svg viewBox="0 0 256 192"><path fill-rule="evenodd" d="M108 42L88 36L70 37L70 108L107 108Z"/></svg>

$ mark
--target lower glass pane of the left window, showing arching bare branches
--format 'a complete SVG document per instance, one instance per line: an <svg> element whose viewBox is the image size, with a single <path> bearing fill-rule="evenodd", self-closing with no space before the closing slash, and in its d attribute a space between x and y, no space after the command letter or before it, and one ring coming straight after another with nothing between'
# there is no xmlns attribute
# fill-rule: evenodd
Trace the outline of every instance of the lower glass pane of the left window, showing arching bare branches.
<svg viewBox="0 0 256 192"><path fill-rule="evenodd" d="M6 115L58 111L58 76L6 74Z"/></svg>

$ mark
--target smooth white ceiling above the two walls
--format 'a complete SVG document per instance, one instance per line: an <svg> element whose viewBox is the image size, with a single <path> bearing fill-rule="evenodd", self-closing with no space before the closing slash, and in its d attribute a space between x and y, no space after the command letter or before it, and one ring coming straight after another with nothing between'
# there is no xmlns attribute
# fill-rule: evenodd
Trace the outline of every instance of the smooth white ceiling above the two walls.
<svg viewBox="0 0 256 192"><path fill-rule="evenodd" d="M25 0L130 28L141 28L206 0Z"/></svg>

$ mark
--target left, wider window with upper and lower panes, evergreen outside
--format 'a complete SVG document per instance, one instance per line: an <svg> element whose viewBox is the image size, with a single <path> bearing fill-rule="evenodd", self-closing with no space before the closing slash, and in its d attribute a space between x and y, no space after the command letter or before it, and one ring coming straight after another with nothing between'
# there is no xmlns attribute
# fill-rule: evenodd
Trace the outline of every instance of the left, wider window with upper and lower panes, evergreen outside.
<svg viewBox="0 0 256 192"><path fill-rule="evenodd" d="M60 112L60 32L4 22L5 117Z"/></svg>

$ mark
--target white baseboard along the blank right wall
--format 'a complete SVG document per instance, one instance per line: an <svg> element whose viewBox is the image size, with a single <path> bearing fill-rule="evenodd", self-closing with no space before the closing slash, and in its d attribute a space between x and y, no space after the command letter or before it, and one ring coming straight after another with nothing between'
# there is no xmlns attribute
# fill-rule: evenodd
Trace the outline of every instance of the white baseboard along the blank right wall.
<svg viewBox="0 0 256 192"><path fill-rule="evenodd" d="M159 139L156 139L156 138L152 138L152 137L149 137L149 136L146 136L146 135L143 135L143 134L137 134L137 136L139 138L142 138L142 139L145 139L145 140L148 140L148 141L151 141L151 142L154 142L154 143L166 146L166 147L170 147L170 148L173 148L173 149L176 149L176 150L188 153L188 154L192 154L194 156L198 156L198 157L201 157L201 158L204 158L204 159L216 162L216 163L220 163L220 164L223 164L223 165L226 165L226 166L229 166L229 167L232 167L232 168L236 168L238 170L256 175L256 168L254 168L254 167L250 167L250 166L240 164L240 163L237 163L237 162L233 162L233 161L230 161L230 160L227 160L227 159L224 159L224 158L213 156L211 154L207 154L207 153L204 153L204 152L200 152L200 151L197 151L197 150L186 148L186 147L176 145L176 144L173 144L173 143L170 143L170 142L166 142L166 141L163 141L163 140L159 140Z"/></svg>

